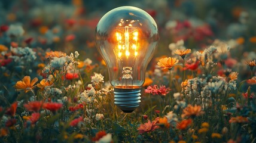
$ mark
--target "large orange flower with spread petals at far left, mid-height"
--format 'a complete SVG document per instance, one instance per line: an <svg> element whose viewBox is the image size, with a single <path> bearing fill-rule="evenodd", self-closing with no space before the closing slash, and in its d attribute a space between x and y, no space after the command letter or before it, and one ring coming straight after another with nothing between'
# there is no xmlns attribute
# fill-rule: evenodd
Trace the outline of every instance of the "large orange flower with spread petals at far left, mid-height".
<svg viewBox="0 0 256 143"><path fill-rule="evenodd" d="M31 77L25 76L25 77L23 77L23 80L20 80L19 82L16 83L15 87L18 90L23 89L26 93L28 93L33 88L35 88L35 86L33 86L33 85L35 85L35 83L37 81L38 81L37 77L35 77L31 82Z"/></svg>

